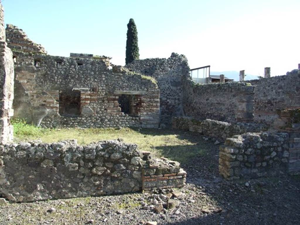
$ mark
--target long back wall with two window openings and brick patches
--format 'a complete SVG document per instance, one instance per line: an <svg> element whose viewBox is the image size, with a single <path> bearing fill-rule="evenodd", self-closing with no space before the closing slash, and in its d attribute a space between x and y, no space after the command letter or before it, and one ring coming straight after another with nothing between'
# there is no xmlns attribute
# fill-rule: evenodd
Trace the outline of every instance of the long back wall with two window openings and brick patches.
<svg viewBox="0 0 300 225"><path fill-rule="evenodd" d="M108 57L14 54L16 116L49 128L158 128L160 94L155 80L128 70L109 69ZM80 101L76 102L72 96L65 98L76 91L80 93ZM133 96L134 114L122 113L118 102L121 95ZM59 112L65 108L69 108L67 113Z"/></svg>

